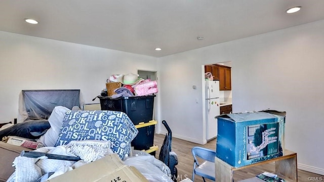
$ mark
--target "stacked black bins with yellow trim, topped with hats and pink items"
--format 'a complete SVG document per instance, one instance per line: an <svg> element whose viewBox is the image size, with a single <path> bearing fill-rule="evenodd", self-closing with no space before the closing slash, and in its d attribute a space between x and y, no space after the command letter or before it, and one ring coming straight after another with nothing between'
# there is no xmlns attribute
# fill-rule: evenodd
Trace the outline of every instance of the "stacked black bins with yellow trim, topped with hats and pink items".
<svg viewBox="0 0 324 182"><path fill-rule="evenodd" d="M158 92L157 82L139 78L136 74L111 75L107 79L106 93L101 92L101 110L126 113L135 125L148 123L153 119L155 93ZM102 94L104 93L104 94ZM155 124L149 123L139 127L139 133L132 141L135 150L151 151L155 156L156 145L153 145Z"/></svg>

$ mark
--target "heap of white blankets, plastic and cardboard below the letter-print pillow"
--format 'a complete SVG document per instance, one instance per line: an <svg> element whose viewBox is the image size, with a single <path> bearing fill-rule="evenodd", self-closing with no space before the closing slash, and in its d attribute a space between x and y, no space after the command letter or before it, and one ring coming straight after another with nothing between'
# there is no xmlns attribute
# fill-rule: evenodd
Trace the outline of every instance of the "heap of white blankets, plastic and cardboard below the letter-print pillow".
<svg viewBox="0 0 324 182"><path fill-rule="evenodd" d="M42 182L67 178L73 181L112 181L118 175L120 178L130 177L132 181L172 182L169 167L154 156L134 151L135 155L122 161L110 150L111 144L110 141L102 140L71 141L67 145L23 151L14 160L16 170L7 181ZM126 170L129 166L133 168Z"/></svg>

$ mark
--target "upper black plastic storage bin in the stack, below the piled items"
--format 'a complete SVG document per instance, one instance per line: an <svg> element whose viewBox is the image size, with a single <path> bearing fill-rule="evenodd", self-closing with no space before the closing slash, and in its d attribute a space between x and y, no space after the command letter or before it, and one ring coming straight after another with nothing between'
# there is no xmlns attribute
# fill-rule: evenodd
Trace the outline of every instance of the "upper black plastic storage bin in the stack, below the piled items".
<svg viewBox="0 0 324 182"><path fill-rule="evenodd" d="M111 98L98 96L101 110L120 111L128 115L134 125L153 118L155 95Z"/></svg>

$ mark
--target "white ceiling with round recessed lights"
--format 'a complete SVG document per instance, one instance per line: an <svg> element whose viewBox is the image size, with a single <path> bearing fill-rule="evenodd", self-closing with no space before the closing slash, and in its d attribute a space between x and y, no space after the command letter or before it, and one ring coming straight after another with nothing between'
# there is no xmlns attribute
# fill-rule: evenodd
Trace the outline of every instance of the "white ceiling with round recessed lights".
<svg viewBox="0 0 324 182"><path fill-rule="evenodd" d="M322 19L323 0L0 1L1 31L154 57Z"/></svg>

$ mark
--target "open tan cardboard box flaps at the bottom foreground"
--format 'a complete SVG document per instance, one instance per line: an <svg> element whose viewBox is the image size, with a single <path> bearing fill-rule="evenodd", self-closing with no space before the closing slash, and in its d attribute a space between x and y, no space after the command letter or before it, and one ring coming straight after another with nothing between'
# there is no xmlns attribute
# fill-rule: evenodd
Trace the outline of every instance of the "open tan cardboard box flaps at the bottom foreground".
<svg viewBox="0 0 324 182"><path fill-rule="evenodd" d="M135 167L130 167L124 164L117 154L111 154L68 171L62 175L48 179L49 182L62 181L135 181L143 182L148 180Z"/></svg>

